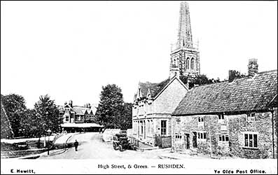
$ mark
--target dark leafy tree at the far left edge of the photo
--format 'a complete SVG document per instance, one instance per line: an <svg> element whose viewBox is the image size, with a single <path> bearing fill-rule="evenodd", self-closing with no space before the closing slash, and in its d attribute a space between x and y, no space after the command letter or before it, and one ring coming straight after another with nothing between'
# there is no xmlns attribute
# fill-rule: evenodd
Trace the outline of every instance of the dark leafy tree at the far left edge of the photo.
<svg viewBox="0 0 278 175"><path fill-rule="evenodd" d="M14 133L14 137L20 136L20 120L27 110L25 106L25 99L19 94L8 94L2 95L1 100L3 102L4 109L6 110L6 115L11 123L11 128Z"/></svg>

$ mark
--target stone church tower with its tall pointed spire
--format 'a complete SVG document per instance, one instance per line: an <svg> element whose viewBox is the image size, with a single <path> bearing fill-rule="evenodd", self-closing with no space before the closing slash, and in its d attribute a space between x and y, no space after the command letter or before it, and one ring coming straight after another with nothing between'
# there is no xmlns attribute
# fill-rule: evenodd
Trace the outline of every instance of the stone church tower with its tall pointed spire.
<svg viewBox="0 0 278 175"><path fill-rule="evenodd" d="M190 13L187 2L181 2L178 41L171 52L170 78L175 75L189 76L189 78L200 75L199 50L198 45L197 47L193 45Z"/></svg>

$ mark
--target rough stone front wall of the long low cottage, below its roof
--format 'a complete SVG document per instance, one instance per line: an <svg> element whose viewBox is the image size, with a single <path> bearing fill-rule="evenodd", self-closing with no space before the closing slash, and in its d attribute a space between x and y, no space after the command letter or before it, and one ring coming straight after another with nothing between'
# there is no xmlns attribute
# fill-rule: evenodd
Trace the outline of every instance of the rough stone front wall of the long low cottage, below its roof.
<svg viewBox="0 0 278 175"><path fill-rule="evenodd" d="M204 123L198 118L204 118ZM177 119L180 123L177 124ZM277 158L277 108L274 118L274 153ZM255 121L246 121L246 114L224 115L224 120L218 120L218 115L173 116L172 148L174 151L186 151L186 134L189 136L190 149L193 146L194 132L206 133L206 139L197 138L198 153L213 153L220 156L235 156L239 158L273 158L272 145L272 113L255 113ZM181 134L181 139L175 140L175 134ZM244 146L244 134L257 134L258 147ZM229 141L220 141L219 135L228 135Z"/></svg>

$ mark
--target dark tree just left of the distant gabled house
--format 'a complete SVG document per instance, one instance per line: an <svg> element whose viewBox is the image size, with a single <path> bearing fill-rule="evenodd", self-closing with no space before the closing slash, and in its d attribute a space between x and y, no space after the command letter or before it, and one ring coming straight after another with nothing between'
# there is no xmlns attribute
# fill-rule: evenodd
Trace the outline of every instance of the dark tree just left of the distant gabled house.
<svg viewBox="0 0 278 175"><path fill-rule="evenodd" d="M50 99L48 94L39 97L39 102L36 102L34 109L36 111L34 119L38 122L39 135L46 134L48 129L52 132L60 132L62 118L59 116L59 109L54 100Z"/></svg>

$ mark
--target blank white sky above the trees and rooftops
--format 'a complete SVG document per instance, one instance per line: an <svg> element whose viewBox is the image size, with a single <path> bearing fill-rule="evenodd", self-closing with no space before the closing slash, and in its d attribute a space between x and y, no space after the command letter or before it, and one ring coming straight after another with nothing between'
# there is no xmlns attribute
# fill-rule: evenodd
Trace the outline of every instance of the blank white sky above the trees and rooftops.
<svg viewBox="0 0 278 175"><path fill-rule="evenodd" d="M132 102L139 81L169 77L180 1L1 1L1 94L20 94L28 108L40 95L56 104L99 103L115 83ZM189 1L200 71L228 78L277 69L276 1Z"/></svg>

